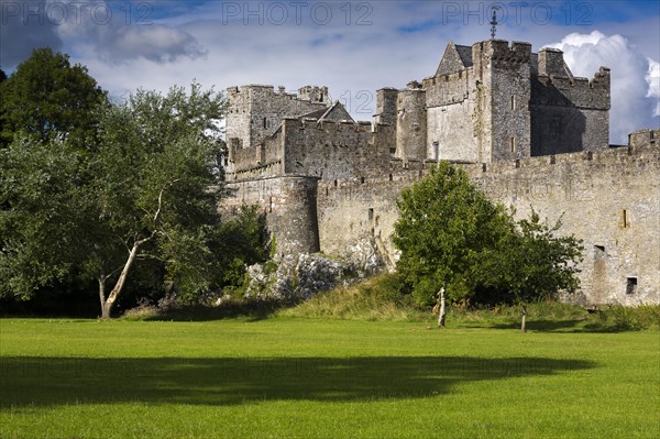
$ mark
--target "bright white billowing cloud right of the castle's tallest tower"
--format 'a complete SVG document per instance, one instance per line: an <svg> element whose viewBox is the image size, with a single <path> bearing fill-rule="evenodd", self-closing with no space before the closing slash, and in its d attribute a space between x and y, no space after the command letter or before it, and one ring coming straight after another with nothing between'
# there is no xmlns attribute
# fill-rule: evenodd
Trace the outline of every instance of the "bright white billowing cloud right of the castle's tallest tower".
<svg viewBox="0 0 660 439"><path fill-rule="evenodd" d="M591 78L600 66L612 69L612 143L626 143L630 132L658 125L658 62L637 52L627 39L593 31L571 33L547 46L564 52L575 76Z"/></svg>

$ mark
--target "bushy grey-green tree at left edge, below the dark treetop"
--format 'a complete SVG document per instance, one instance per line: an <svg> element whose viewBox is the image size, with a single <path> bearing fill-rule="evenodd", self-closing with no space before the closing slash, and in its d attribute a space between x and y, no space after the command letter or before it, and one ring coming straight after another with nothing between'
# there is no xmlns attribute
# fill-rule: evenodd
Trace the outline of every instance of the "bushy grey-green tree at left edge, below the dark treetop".
<svg viewBox="0 0 660 439"><path fill-rule="evenodd" d="M0 149L1 296L29 298L65 277L84 254L82 167L79 153L59 139L19 138Z"/></svg>

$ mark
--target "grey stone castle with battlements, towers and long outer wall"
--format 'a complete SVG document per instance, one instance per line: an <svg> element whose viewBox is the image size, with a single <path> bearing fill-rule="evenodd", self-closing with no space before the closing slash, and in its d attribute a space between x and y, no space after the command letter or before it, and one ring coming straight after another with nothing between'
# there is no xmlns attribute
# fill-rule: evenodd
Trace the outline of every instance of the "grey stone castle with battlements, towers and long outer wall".
<svg viewBox="0 0 660 439"><path fill-rule="evenodd" d="M660 303L659 132L609 145L606 67L588 80L558 50L450 43L433 76L377 90L373 122L326 87L231 87L227 100L221 209L261 206L278 253L369 243L393 267L396 198L443 160L516 217L534 208L584 241L583 301Z"/></svg>

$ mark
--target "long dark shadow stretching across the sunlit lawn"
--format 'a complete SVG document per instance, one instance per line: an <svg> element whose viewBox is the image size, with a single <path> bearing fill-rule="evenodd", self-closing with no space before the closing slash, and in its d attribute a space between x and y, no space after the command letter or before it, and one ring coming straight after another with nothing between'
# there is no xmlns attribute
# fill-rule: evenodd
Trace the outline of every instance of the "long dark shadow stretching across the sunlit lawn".
<svg viewBox="0 0 660 439"><path fill-rule="evenodd" d="M65 404L235 405L448 394L460 383L588 370L548 358L473 356L0 359L0 407Z"/></svg>

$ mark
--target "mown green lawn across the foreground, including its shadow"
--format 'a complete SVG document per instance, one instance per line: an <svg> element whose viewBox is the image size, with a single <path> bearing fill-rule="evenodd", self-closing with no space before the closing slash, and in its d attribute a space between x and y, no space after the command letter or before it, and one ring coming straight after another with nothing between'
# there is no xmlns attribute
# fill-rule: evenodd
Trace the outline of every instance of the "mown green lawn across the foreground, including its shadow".
<svg viewBox="0 0 660 439"><path fill-rule="evenodd" d="M659 374L658 331L2 319L0 437L657 438Z"/></svg>

